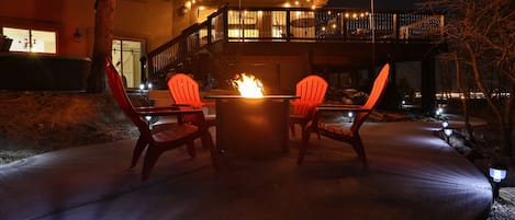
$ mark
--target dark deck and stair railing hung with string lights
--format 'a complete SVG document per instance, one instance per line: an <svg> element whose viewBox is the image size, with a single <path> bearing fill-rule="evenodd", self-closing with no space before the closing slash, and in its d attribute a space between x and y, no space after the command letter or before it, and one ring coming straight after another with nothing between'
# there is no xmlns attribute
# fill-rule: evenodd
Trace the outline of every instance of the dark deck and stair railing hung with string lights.
<svg viewBox="0 0 515 220"><path fill-rule="evenodd" d="M421 12L223 7L149 53L148 67L150 76L166 73L219 42L430 44L440 40L443 25L444 15Z"/></svg>

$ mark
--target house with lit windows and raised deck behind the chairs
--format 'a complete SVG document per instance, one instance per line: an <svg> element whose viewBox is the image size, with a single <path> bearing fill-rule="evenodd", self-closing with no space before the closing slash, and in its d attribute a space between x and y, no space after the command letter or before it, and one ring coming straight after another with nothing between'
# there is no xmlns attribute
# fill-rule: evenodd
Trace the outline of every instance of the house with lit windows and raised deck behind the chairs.
<svg viewBox="0 0 515 220"><path fill-rule="evenodd" d="M369 8L324 8L327 3L334 1L116 0L113 63L127 88L164 86L175 72L224 86L231 76L248 72L280 93L310 73L323 76L332 88L356 88L382 63L418 60L433 84L423 88L423 96L429 97L427 107L434 105L430 67L439 44L416 35L422 27L438 28L443 16L390 10L374 12L372 20ZM8 54L90 59L93 9L93 0L2 0L0 33L15 38L16 48ZM83 72L71 78L83 80L87 68L78 71Z"/></svg>

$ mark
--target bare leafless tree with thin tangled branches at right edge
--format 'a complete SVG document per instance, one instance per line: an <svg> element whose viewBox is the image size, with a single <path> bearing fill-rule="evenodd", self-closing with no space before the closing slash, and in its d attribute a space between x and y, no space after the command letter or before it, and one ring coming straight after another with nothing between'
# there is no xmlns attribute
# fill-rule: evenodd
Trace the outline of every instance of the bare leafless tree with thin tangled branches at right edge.
<svg viewBox="0 0 515 220"><path fill-rule="evenodd" d="M446 12L445 40L460 72L484 95L500 134L501 152L515 157L515 1L432 0L425 7ZM457 68L457 70L459 70ZM499 95L508 93L510 95Z"/></svg>

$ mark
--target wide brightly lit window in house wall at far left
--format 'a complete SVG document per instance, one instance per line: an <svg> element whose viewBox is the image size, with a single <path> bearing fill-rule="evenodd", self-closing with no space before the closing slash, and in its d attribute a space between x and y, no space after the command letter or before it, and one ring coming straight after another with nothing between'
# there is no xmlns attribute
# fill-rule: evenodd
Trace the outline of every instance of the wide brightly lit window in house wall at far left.
<svg viewBox="0 0 515 220"><path fill-rule="evenodd" d="M57 53L57 34L53 31L3 27L3 35L12 39L9 51Z"/></svg>

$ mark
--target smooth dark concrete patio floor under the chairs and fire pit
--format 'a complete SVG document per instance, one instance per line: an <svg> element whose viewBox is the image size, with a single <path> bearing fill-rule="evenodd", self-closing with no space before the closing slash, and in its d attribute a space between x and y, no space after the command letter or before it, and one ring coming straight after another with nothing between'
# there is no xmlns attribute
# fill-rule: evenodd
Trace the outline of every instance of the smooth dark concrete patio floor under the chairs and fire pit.
<svg viewBox="0 0 515 220"><path fill-rule="evenodd" d="M69 148L0 166L0 219L459 219L486 213L486 177L433 135L428 121L366 123L369 170L345 143L312 138L295 163L220 155L219 173L198 144L168 151L150 178L127 170L135 140ZM213 131L213 137L214 131Z"/></svg>

